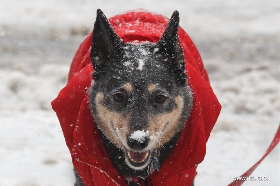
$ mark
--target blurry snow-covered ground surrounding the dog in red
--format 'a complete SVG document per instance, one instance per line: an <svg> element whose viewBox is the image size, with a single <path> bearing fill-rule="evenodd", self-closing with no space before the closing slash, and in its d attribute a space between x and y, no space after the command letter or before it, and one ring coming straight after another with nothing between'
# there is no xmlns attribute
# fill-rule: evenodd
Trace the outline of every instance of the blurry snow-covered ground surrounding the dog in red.
<svg viewBox="0 0 280 186"><path fill-rule="evenodd" d="M195 185L226 185L266 151L279 122L279 1L1 1L1 185L73 185L69 151L50 102L93 28L145 8L180 25L202 55L221 115ZM280 185L279 145L252 176Z"/></svg>

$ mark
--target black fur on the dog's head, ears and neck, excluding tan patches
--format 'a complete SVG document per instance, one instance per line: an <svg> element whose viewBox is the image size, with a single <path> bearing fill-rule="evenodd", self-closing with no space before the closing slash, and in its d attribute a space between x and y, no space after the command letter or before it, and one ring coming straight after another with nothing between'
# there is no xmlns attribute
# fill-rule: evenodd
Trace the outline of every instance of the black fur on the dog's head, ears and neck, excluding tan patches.
<svg viewBox="0 0 280 186"><path fill-rule="evenodd" d="M173 111L177 107L175 98L178 95L184 100L183 114L177 126L177 133L159 149L160 165L172 152L192 109L192 92L186 83L184 55L178 40L178 24L179 13L174 11L158 43L123 43L103 12L98 9L93 29L90 57L94 67L94 84L90 89L89 103L97 126L99 119L95 99L99 92L104 94L102 105L108 110L116 111L123 116L132 113L131 130L147 129L148 116L159 116ZM140 60L144 61L143 66L140 65ZM126 93L122 88L126 82L133 85L132 93ZM159 87L152 95L147 92L150 83L157 84ZM123 102L114 100L113 95L116 92L124 95ZM154 102L158 94L166 95L163 104ZM130 168L124 161L124 150L116 147L100 129L98 131L114 166L121 175L132 177L149 175L148 167L143 170Z"/></svg>

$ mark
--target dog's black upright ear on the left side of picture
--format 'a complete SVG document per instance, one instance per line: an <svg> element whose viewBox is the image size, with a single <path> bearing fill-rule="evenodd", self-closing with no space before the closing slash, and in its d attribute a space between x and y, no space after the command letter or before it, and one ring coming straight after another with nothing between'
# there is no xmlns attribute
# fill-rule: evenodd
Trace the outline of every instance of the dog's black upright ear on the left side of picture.
<svg viewBox="0 0 280 186"><path fill-rule="evenodd" d="M101 65L99 63L106 62L108 58L117 54L122 44L121 39L100 9L97 9L92 39L90 58L93 68L97 70Z"/></svg>

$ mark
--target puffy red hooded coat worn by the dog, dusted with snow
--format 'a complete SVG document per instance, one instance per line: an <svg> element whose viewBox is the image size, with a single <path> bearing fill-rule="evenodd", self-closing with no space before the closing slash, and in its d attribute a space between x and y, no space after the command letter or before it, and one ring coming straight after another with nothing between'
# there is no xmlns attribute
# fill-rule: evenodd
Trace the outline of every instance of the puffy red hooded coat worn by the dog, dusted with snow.
<svg viewBox="0 0 280 186"><path fill-rule="evenodd" d="M168 18L144 10L132 11L109 19L124 42L158 42ZM183 129L172 154L160 171L150 175L153 185L190 185L195 170L204 159L206 141L219 116L221 105L210 86L197 48L186 32L179 28L179 41L184 51L188 84L193 91L191 117ZM92 33L81 43L69 72L69 82L52 102L73 164L86 185L125 185L113 166L97 133L88 108L87 90L93 67L89 53Z"/></svg>

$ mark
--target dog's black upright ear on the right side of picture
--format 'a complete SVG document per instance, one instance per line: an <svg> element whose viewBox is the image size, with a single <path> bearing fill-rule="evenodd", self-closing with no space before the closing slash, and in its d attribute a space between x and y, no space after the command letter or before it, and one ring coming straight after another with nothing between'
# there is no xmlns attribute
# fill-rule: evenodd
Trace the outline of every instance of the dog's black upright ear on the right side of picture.
<svg viewBox="0 0 280 186"><path fill-rule="evenodd" d="M159 52L174 60L175 66L184 66L184 53L178 39L179 12L174 11L158 42Z"/></svg>

